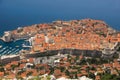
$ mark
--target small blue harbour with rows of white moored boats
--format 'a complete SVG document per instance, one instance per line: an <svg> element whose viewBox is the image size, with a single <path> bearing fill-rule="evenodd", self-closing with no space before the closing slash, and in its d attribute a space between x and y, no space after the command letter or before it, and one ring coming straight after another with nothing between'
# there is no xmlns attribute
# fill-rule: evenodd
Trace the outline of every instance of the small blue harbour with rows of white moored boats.
<svg viewBox="0 0 120 80"><path fill-rule="evenodd" d="M19 54L21 50L28 50L30 46L25 43L28 44L25 40L12 41L9 43L0 40L0 56Z"/></svg>

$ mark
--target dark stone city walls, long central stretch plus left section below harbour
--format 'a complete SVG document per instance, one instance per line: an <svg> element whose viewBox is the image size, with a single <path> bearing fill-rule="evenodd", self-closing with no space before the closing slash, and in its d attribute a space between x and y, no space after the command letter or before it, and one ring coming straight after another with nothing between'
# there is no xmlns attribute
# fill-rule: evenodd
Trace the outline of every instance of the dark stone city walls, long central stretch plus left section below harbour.
<svg viewBox="0 0 120 80"><path fill-rule="evenodd" d="M79 49L60 49L60 50L50 50L50 51L45 51L45 52L36 52L34 54L26 54L24 55L24 57L26 59L28 58L38 58L38 57L47 57L47 56L55 56L57 54L71 54L71 55L83 55L83 56L87 56L87 57L93 57L93 58L112 58L113 54L103 54L102 51L97 51L97 50L79 50ZM2 64L7 64L10 63L12 61L19 61L20 60L20 56L17 57L13 57L13 58L5 58L5 59L0 59L0 63Z"/></svg>

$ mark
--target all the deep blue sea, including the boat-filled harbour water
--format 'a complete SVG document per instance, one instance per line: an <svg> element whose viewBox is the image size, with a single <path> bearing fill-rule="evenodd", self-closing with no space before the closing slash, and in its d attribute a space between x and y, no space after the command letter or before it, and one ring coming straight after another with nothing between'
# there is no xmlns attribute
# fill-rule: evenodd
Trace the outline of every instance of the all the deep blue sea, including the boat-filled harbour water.
<svg viewBox="0 0 120 80"><path fill-rule="evenodd" d="M0 0L0 36L17 27L85 18L103 20L119 31L120 0ZM18 53L24 43L0 41L0 55Z"/></svg>

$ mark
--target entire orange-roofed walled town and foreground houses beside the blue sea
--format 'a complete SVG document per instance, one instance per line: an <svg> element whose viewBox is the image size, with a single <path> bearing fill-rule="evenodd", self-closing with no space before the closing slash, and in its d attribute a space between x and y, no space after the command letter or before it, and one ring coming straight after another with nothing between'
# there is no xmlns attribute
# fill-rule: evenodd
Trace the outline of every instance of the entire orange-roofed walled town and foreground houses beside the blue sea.
<svg viewBox="0 0 120 80"><path fill-rule="evenodd" d="M6 43L25 39L30 44L23 44L30 49L20 51L18 55L1 56L2 78L41 78L47 74L46 80L83 76L100 80L105 77L103 74L115 75L116 79L120 75L120 32L101 20L58 20L19 27L4 32L0 39Z"/></svg>

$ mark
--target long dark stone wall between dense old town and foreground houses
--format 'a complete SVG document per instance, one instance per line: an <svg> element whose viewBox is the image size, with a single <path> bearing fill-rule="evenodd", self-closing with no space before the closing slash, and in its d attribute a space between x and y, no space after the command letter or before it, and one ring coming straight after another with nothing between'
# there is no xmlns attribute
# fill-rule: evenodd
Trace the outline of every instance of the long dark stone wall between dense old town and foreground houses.
<svg viewBox="0 0 120 80"><path fill-rule="evenodd" d="M58 53L71 54L71 55L83 55L83 56L98 57L98 58L102 56L102 52L97 50L61 49L61 50L51 50L46 52L38 52L35 54L26 54L26 58L54 56L54 55L57 55Z"/></svg>

